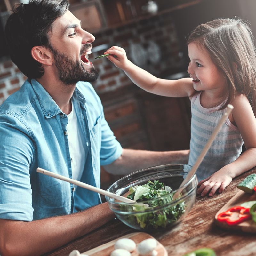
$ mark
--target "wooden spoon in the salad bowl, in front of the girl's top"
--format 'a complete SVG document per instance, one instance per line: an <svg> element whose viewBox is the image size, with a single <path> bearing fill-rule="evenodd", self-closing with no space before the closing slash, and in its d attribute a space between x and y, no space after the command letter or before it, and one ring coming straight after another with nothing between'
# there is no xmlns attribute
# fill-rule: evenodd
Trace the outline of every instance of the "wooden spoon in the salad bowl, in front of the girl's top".
<svg viewBox="0 0 256 256"><path fill-rule="evenodd" d="M226 112L222 115L219 123L217 124L217 126L215 127L214 131L212 132L211 137L209 138L209 140L206 142L201 154L198 156L196 163L193 165L193 167L191 168L190 172L188 172L188 175L186 176L186 178L182 181L182 183L180 184L180 187L182 187L183 185L185 185L186 183L188 183L188 181L194 176L194 174L196 173L196 170L198 168L198 166L201 164L201 162L204 159L204 156L206 155L206 153L208 152L209 148L212 145L213 140L215 139L216 135L218 134L220 127L222 126L222 124L224 124L224 122L226 121L226 118L228 117L228 115L231 113L232 109L234 107L231 104L228 104L227 106L227 110ZM179 187L179 188L180 188ZM173 200L175 200L179 194L180 194L180 189L178 188L178 190L176 191L176 193L173 195Z"/></svg>

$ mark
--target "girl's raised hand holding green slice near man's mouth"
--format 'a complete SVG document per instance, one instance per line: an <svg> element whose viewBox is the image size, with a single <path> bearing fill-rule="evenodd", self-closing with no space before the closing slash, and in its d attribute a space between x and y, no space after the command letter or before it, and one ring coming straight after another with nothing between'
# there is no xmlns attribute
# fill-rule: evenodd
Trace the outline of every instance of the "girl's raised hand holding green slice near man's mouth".
<svg viewBox="0 0 256 256"><path fill-rule="evenodd" d="M121 68L125 70L129 66L129 60L126 57L126 52L123 48L118 46L112 46L110 49L108 49L104 54L111 54L107 56L108 60L112 61L117 68ZM116 58L114 57L116 55Z"/></svg>

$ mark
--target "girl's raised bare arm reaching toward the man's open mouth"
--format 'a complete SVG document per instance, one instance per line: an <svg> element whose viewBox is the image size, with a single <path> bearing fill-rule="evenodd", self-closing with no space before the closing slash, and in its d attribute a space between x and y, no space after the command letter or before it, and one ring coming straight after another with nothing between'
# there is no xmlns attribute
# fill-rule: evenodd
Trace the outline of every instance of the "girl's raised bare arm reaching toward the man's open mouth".
<svg viewBox="0 0 256 256"><path fill-rule="evenodd" d="M116 67L123 69L134 84L147 92L169 97L187 97L194 92L191 78L182 78L179 80L157 78L128 60L124 49L121 47L112 46L104 54L111 54L107 58Z"/></svg>

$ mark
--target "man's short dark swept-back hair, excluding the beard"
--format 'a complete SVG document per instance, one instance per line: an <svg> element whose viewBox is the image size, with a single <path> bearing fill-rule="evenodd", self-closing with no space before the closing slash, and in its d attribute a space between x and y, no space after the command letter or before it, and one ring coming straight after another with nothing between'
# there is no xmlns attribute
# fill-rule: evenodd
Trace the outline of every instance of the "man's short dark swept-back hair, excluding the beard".
<svg viewBox="0 0 256 256"><path fill-rule="evenodd" d="M31 0L28 4L13 7L5 25L5 36L12 61L28 78L44 75L41 63L33 59L34 46L49 45L48 32L58 17L69 7L67 0Z"/></svg>

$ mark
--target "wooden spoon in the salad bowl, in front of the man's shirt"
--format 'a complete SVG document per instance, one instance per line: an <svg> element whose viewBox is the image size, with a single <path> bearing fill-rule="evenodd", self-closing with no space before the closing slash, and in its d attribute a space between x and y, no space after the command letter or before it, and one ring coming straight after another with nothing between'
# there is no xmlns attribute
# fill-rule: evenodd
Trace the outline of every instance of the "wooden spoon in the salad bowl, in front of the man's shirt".
<svg viewBox="0 0 256 256"><path fill-rule="evenodd" d="M124 196L118 196L114 193L108 192L108 191L103 190L101 188L96 188L96 187L91 186L89 184L86 184L84 182L81 182L81 181L78 181L78 180L73 180L73 179L70 179L68 177L62 176L60 174L50 172L50 171L46 171L46 170L44 170L42 168L39 168L39 167L36 169L36 172L43 173L45 175L51 176L51 177L56 178L56 179L67 181L69 183L75 184L75 185L77 185L79 187L82 187L82 188L87 188L89 190L100 193L104 196L109 196L111 198L114 198L114 199L119 200L119 201L124 202L124 203L137 203L136 201L134 201L132 199L129 199L129 198L126 198Z"/></svg>

